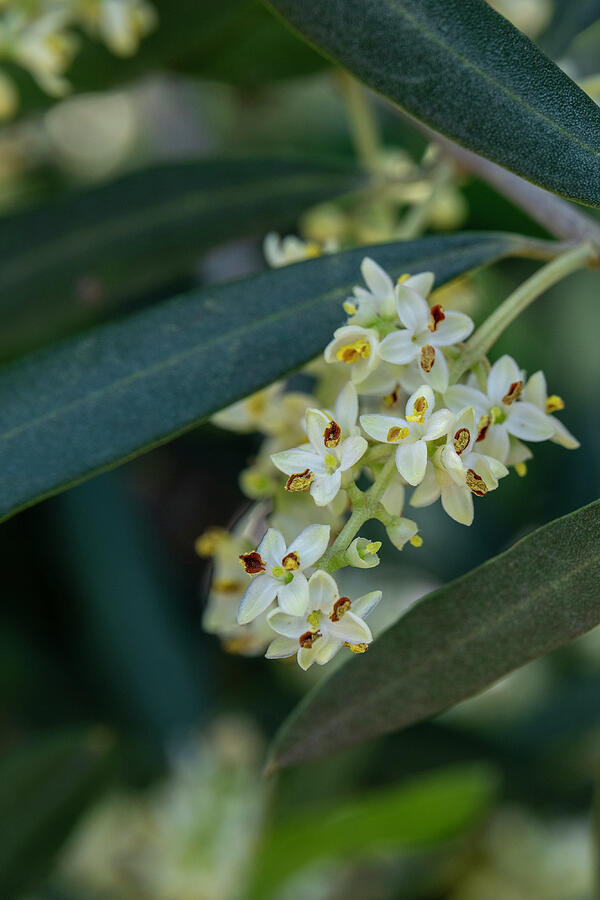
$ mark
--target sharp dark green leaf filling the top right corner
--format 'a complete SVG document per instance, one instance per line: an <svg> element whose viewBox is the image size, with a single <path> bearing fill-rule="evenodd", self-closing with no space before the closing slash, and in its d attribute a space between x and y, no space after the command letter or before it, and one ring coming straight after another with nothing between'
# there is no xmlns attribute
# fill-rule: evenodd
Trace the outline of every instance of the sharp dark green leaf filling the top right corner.
<svg viewBox="0 0 600 900"><path fill-rule="evenodd" d="M542 187L600 205L600 110L485 0L269 0L411 115Z"/></svg>

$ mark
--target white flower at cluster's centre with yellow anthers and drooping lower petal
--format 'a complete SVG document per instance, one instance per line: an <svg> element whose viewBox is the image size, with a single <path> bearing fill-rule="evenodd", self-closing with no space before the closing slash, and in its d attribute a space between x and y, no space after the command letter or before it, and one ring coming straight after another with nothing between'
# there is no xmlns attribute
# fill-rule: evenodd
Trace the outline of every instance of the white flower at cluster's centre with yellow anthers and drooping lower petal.
<svg viewBox="0 0 600 900"><path fill-rule="evenodd" d="M447 409L433 412L433 391L426 384L411 394L406 404L406 419L386 415L365 415L360 424L370 437L395 444L396 468L409 484L419 484L427 466L427 441L446 434L453 414Z"/></svg>

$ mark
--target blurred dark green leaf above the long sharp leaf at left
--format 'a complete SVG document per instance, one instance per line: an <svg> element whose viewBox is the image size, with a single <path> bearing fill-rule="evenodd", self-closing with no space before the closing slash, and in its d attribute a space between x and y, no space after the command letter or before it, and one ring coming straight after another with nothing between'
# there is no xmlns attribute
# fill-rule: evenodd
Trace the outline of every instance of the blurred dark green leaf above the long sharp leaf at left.
<svg viewBox="0 0 600 900"><path fill-rule="evenodd" d="M154 166L0 219L0 356L192 271L223 241L360 187L342 162L234 156Z"/></svg>

